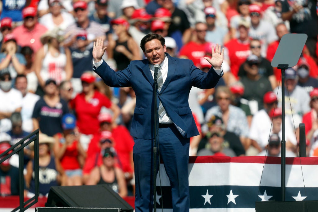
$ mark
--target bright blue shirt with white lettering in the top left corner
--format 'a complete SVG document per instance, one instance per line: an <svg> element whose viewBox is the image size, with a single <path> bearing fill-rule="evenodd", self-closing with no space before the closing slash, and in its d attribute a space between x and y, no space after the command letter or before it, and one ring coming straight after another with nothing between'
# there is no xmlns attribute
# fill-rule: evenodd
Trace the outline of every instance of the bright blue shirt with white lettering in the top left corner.
<svg viewBox="0 0 318 212"><path fill-rule="evenodd" d="M12 21L23 21L22 9L24 8L26 0L3 0L1 20L4 17L10 17Z"/></svg>

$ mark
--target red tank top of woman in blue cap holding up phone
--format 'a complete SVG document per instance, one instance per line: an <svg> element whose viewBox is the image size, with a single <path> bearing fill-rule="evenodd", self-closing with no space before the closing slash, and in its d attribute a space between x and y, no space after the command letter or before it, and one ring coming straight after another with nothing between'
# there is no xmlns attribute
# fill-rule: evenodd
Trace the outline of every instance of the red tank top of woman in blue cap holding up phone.
<svg viewBox="0 0 318 212"><path fill-rule="evenodd" d="M61 133L58 133L59 140L64 139L61 135ZM64 141L65 142L65 141ZM64 170L74 170L74 169L79 169L79 161L78 161L78 141L75 140L71 145L66 147L65 153L63 157L60 159L61 166L63 167ZM60 147L63 146L63 144L60 142L59 144Z"/></svg>

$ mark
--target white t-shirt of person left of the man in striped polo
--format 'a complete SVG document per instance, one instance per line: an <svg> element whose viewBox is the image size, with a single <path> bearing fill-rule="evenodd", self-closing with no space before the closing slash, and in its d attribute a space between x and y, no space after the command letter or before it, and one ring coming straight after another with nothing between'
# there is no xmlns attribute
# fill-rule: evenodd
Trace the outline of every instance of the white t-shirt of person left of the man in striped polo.
<svg viewBox="0 0 318 212"><path fill-rule="evenodd" d="M53 23L53 19L52 19L52 13L47 13L45 15L43 15L40 20L39 23L44 25L48 30L52 30L55 27L59 27L61 30L66 30L66 28L70 25L73 24L75 22L74 17L68 13L68 12L61 12L62 17L63 17L63 22L60 25L55 25Z"/></svg>

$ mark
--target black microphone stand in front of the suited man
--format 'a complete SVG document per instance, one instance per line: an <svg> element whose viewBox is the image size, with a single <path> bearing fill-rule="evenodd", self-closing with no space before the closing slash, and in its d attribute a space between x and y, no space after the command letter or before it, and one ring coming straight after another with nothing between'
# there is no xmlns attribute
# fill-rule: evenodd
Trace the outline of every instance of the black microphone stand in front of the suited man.
<svg viewBox="0 0 318 212"><path fill-rule="evenodd" d="M157 132L158 132L158 109L157 109L157 75L158 75L158 68L155 68L155 73L154 73L154 83L155 83L155 88L154 88L154 146L153 146L153 165L154 165L154 170L153 170L153 186L154 186L154 212L157 211L157 201L156 201L156 196L157 196L157 187L156 187L156 181L157 181Z"/></svg>

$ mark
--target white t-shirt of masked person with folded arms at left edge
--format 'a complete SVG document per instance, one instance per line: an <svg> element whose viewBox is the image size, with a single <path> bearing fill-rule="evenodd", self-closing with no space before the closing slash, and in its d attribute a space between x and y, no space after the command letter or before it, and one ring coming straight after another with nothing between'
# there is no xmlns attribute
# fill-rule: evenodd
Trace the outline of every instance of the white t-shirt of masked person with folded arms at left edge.
<svg viewBox="0 0 318 212"><path fill-rule="evenodd" d="M9 92L3 92L0 89L0 99L0 112L12 113L22 107L22 94L14 88L11 88ZM0 132L7 132L11 130L11 127L10 119L0 120Z"/></svg>

